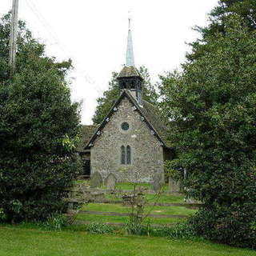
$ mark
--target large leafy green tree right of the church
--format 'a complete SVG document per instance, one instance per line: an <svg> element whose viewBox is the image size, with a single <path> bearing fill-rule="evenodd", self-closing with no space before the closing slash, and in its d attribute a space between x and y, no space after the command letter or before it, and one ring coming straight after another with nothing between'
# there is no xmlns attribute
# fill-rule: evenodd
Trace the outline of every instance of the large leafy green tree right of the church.
<svg viewBox="0 0 256 256"><path fill-rule="evenodd" d="M207 54L162 76L162 110L171 120L186 193L204 203L191 219L198 234L256 247L256 33L243 18L205 38ZM181 176L182 174L180 174Z"/></svg>

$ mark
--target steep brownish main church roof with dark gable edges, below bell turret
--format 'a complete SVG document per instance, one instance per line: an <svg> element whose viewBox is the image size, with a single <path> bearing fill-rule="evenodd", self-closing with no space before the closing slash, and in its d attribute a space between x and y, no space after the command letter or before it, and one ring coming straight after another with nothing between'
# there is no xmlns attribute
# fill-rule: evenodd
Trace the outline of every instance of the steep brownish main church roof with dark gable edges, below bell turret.
<svg viewBox="0 0 256 256"><path fill-rule="evenodd" d="M94 142L94 139L97 138L97 133L99 130L102 130L107 123L107 118L110 118L114 113L114 108L118 107L119 103L122 101L122 98L127 97L130 102L136 106L137 111L144 118L144 122L150 127L150 130L154 130L155 136L162 143L162 146L171 148L170 142L167 140L168 130L164 122L162 122L160 111L156 106L150 102L143 101L143 107L138 105L138 102L130 94L128 90L123 90L122 94L119 96L118 100L112 106L110 112L106 115L106 118L103 122L97 127L94 126L94 129L91 127L90 132L88 128L85 128L86 134L83 134L83 141L85 142L85 149L90 148L90 144ZM90 138L89 138L90 136Z"/></svg>

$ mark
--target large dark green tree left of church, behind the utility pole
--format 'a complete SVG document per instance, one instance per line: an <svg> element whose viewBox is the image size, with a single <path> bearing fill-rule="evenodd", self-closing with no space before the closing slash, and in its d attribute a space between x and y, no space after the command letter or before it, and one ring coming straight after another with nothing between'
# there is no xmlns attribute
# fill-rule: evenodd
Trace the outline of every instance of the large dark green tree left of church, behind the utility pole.
<svg viewBox="0 0 256 256"><path fill-rule="evenodd" d="M10 14L0 22L0 219L42 221L65 210L66 186L80 170L79 106L66 82L71 62L46 57L24 22L10 78L9 37Z"/></svg>

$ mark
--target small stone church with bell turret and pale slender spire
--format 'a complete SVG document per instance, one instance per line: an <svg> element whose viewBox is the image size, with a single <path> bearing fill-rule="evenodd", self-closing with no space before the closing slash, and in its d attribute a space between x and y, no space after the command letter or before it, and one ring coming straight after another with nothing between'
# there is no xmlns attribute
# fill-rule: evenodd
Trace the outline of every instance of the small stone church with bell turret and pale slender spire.
<svg viewBox="0 0 256 256"><path fill-rule="evenodd" d="M164 161L173 150L158 107L143 99L143 79L134 66L132 35L128 30L126 65L118 74L121 94L103 122L84 126L80 155L88 175L114 174L118 182L153 182L164 178Z"/></svg>

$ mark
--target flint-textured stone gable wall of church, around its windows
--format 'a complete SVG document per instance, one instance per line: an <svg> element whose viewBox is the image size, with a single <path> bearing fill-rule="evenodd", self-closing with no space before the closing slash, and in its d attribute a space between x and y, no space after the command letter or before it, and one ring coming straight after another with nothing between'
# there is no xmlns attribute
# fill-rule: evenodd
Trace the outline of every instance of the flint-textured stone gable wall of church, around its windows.
<svg viewBox="0 0 256 256"><path fill-rule="evenodd" d="M163 174L162 146L132 107L132 103L123 98L94 141L90 151L91 174L98 171L106 178L113 173L118 182L152 182L154 174ZM123 122L129 123L129 130L122 130ZM121 146L130 146L130 165L121 164Z"/></svg>

